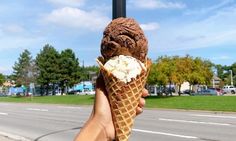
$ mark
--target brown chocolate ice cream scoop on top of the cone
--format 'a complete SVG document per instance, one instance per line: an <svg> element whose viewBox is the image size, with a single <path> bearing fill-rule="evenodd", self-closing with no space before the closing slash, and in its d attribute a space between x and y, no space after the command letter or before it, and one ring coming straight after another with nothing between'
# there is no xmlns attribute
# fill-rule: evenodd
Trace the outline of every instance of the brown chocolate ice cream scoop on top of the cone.
<svg viewBox="0 0 236 141"><path fill-rule="evenodd" d="M114 19L105 29L101 54L105 62L118 55L132 56L145 61L148 42L139 24L132 18Z"/></svg>

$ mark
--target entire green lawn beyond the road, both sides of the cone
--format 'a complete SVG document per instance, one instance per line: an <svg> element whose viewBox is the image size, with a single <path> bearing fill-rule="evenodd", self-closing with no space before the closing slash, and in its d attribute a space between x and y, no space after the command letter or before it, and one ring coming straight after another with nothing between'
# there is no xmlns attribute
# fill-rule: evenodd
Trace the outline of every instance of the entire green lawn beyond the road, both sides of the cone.
<svg viewBox="0 0 236 141"><path fill-rule="evenodd" d="M94 96L0 97L0 102L92 105ZM147 108L236 112L236 96L172 96L146 98Z"/></svg>

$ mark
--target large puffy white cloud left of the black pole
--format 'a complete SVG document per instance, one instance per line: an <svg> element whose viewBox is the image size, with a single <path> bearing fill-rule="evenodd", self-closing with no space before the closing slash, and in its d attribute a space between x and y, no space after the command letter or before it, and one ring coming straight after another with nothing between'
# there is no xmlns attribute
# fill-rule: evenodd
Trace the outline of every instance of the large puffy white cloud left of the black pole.
<svg viewBox="0 0 236 141"><path fill-rule="evenodd" d="M78 8L64 7L53 10L44 17L44 21L59 26L95 31L105 28L110 19L98 11L87 12Z"/></svg>

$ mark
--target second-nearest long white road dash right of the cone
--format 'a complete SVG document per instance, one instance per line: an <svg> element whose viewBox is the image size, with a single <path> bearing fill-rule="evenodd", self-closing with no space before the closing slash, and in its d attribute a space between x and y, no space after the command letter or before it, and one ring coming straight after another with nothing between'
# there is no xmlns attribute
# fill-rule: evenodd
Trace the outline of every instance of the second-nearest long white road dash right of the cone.
<svg viewBox="0 0 236 141"><path fill-rule="evenodd" d="M210 124L210 125L221 125L221 126L230 126L228 123L217 123L217 122L203 122L203 121L193 121L193 120L178 120L178 119L166 119L159 118L162 121L171 121L171 122L185 122L185 123L195 123L195 124Z"/></svg>

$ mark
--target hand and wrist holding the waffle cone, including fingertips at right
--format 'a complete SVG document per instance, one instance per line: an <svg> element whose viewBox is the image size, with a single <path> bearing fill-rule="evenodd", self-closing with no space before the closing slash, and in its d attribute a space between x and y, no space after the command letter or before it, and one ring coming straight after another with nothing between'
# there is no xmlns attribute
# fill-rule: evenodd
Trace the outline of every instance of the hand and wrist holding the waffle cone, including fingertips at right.
<svg viewBox="0 0 236 141"><path fill-rule="evenodd" d="M74 141L112 141L115 138L111 109L101 76L98 77L96 85L93 111ZM143 112L146 96L148 96L148 91L143 89L142 98L136 109L137 115Z"/></svg>

